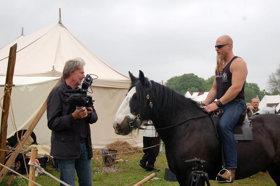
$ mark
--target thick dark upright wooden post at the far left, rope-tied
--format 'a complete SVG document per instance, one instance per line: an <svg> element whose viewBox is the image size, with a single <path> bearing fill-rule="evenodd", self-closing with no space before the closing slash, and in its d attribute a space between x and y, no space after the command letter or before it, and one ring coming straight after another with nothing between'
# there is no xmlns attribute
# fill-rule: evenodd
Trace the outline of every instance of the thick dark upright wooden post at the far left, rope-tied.
<svg viewBox="0 0 280 186"><path fill-rule="evenodd" d="M5 84L13 84L13 76L15 69L15 58L17 54L17 43L15 43L10 48L10 54L8 58L8 67L6 74L6 83ZM1 131L0 131L0 149L5 150L6 148L6 138L7 138L7 128L8 128L8 116L9 116L9 108L10 108L10 96L8 94L12 93L12 88L10 88L10 92L6 92L3 99L3 110L1 115ZM5 88L5 91L7 88ZM4 164L5 159L5 151L0 151L0 163Z"/></svg>

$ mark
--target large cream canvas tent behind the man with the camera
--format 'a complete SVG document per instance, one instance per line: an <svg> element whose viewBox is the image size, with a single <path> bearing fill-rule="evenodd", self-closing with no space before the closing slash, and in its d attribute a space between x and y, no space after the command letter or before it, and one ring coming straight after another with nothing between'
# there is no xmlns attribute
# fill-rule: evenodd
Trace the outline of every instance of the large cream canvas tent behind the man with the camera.
<svg viewBox="0 0 280 186"><path fill-rule="evenodd" d="M75 57L84 59L85 74L96 74L92 83L92 95L98 121L90 125L92 144L104 148L115 140L125 140L141 146L141 132L133 136L114 133L113 118L125 97L130 80L94 55L63 24L57 23L28 36L20 36L0 49L0 84L5 84L9 50L17 43L17 56L12 90L12 108L17 129L27 129L62 75L64 64ZM92 76L93 77L93 76ZM93 77L94 78L94 77ZM1 87L1 97L4 88ZM9 114L11 115L11 113ZM8 120L8 136L15 132L11 118ZM51 131L47 127L46 113L34 129L37 142L50 145Z"/></svg>

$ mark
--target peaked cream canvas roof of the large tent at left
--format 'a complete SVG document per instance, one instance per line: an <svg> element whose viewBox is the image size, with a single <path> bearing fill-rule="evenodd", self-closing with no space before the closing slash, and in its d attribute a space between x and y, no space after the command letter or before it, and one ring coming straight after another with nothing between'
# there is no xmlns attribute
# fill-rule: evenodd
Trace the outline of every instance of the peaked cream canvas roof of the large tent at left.
<svg viewBox="0 0 280 186"><path fill-rule="evenodd" d="M17 43L14 76L61 77L65 62L82 58L85 74L96 74L100 87L128 88L128 76L119 73L93 54L60 23L28 36L20 36L0 49L0 76L6 76L10 47Z"/></svg>

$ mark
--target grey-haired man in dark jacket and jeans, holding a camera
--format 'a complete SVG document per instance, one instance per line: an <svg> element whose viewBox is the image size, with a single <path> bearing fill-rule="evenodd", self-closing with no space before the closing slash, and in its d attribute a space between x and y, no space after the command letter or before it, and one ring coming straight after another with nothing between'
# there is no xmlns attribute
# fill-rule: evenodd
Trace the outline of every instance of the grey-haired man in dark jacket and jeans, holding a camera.
<svg viewBox="0 0 280 186"><path fill-rule="evenodd" d="M89 124L97 121L97 114L93 107L78 109L70 105L71 94L67 93L82 84L84 65L81 58L67 61L62 83L50 92L47 99L48 128L52 130L50 154L58 163L60 179L72 186L75 185L75 169L79 185L92 185Z"/></svg>

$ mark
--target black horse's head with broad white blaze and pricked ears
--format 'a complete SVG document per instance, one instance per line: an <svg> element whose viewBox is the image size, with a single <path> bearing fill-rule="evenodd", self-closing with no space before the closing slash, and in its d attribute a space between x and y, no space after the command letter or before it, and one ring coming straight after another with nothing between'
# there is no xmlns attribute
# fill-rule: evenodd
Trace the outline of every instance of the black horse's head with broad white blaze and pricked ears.
<svg viewBox="0 0 280 186"><path fill-rule="evenodd" d="M152 83L145 78L142 71L139 71L139 78L136 78L129 72L131 86L122 101L115 118L113 127L116 134L127 135L136 127L150 119L150 108L153 102L150 96Z"/></svg>

